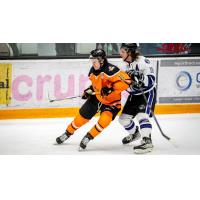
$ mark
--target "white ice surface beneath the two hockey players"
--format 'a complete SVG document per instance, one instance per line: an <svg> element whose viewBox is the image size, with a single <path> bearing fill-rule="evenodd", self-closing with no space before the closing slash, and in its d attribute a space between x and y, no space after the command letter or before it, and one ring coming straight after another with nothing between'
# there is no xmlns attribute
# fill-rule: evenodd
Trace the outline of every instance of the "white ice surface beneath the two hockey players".
<svg viewBox="0 0 200 200"><path fill-rule="evenodd" d="M150 154L200 154L200 114L157 115L163 132L172 138L173 144L160 134L153 123L154 150ZM62 145L55 145L72 118L0 120L1 155L47 154L126 154L134 155L133 144L122 145L127 132L117 118L99 136L88 144L87 150L78 151L82 137L95 124L97 118L80 128Z"/></svg>

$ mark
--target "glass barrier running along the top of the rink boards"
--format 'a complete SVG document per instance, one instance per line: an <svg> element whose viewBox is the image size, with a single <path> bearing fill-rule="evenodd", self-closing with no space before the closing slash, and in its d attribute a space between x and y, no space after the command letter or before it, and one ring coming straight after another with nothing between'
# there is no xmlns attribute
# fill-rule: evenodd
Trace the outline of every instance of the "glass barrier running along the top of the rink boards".
<svg viewBox="0 0 200 200"><path fill-rule="evenodd" d="M200 55L200 43L138 43L145 56ZM109 57L119 57L121 43L0 43L0 58L88 58L102 48Z"/></svg>

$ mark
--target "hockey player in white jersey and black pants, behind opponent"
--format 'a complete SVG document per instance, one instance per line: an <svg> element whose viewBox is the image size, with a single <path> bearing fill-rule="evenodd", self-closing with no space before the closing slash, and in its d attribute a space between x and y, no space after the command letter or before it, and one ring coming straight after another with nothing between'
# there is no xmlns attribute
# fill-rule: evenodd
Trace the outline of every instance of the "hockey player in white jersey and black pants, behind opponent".
<svg viewBox="0 0 200 200"><path fill-rule="evenodd" d="M136 43L122 43L120 56L127 62L126 72L133 80L133 84L127 90L129 96L119 117L120 124L129 132L122 143L128 144L141 139L141 143L133 147L134 152L151 152L153 144L150 117L156 103L155 74L150 61L137 52ZM138 121L139 127L135 125L135 120Z"/></svg>

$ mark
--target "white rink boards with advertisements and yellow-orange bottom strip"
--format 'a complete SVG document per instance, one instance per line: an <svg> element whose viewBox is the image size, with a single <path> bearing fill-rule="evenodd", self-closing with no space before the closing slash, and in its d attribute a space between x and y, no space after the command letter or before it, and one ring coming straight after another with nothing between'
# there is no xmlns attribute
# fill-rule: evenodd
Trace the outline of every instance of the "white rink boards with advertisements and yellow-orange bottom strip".
<svg viewBox="0 0 200 200"><path fill-rule="evenodd" d="M109 59L125 69L121 59ZM200 59L150 59L157 75L156 114L200 113ZM9 101L0 103L0 119L72 117L81 98L56 101L83 93L90 85L88 59L1 60L10 67ZM12 84L11 84L12 83ZM6 80L1 81L6 87ZM5 88L0 88L2 93ZM122 104L127 93L122 94Z"/></svg>

